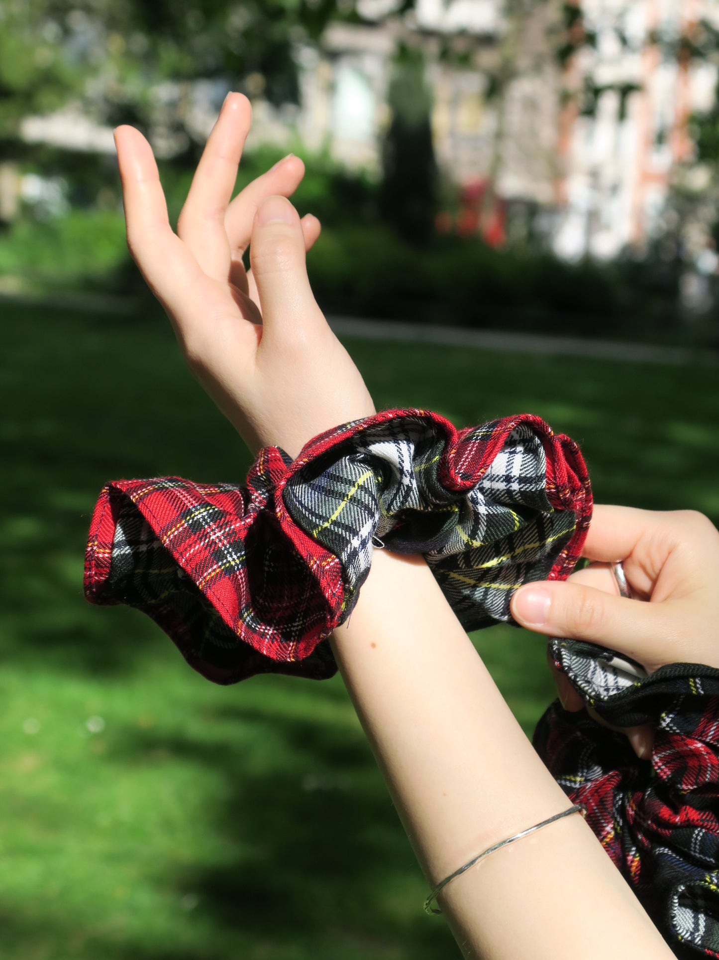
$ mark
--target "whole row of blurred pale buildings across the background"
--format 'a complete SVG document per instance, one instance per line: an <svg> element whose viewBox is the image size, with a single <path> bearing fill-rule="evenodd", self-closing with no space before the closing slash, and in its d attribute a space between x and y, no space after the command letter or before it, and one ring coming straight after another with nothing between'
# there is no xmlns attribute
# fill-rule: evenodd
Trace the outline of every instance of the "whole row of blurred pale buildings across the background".
<svg viewBox="0 0 719 960"><path fill-rule="evenodd" d="M711 107L716 90L716 67L683 57L678 41L703 19L719 26L719 0L582 0L582 30L595 42L564 59L558 45L572 5L562 0L512 17L503 0L417 0L403 17L394 7L359 0L365 23L333 23L318 48L298 49L299 106L272 108L264 78L247 78L252 141L288 143L299 132L311 149L327 146L350 166L378 171L392 60L405 42L426 55L440 167L470 205L494 206L496 238L504 236L499 209L510 232L531 225L567 259L610 258L661 232L670 182L690 159L687 121ZM181 111L184 129L201 139L225 92L221 81L157 88L158 155L172 156L187 138L176 123L163 126L163 111L171 120ZM26 118L22 134L113 150L111 132L72 108ZM0 176L0 216L14 209L13 182L12 171ZM483 228L478 212L475 228Z"/></svg>

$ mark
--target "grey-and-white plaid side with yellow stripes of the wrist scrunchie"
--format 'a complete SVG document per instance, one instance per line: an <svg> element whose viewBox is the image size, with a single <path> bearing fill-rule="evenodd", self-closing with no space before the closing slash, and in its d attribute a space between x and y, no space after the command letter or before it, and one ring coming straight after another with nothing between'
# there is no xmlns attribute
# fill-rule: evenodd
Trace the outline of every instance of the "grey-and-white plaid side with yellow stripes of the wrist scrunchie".
<svg viewBox="0 0 719 960"><path fill-rule="evenodd" d="M487 434L477 427L465 443ZM506 621L513 590L545 579L575 530L573 513L549 505L544 447L524 424L467 492L441 482L443 447L423 421L383 423L334 452L325 469L313 461L298 470L283 496L295 523L340 559L350 596L369 572L375 536L425 555L466 629Z"/></svg>

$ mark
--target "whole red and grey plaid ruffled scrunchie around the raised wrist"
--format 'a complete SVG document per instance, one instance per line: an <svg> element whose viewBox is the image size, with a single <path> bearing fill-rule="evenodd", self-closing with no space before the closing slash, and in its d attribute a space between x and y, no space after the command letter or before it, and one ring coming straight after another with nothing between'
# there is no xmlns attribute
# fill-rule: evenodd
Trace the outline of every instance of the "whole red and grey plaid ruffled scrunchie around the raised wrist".
<svg viewBox="0 0 719 960"><path fill-rule="evenodd" d="M457 431L389 410L261 450L244 488L178 477L107 484L85 595L148 613L201 674L324 678L322 640L357 601L372 552L421 553L468 630L511 620L530 580L563 579L591 518L582 456L530 415Z"/></svg>

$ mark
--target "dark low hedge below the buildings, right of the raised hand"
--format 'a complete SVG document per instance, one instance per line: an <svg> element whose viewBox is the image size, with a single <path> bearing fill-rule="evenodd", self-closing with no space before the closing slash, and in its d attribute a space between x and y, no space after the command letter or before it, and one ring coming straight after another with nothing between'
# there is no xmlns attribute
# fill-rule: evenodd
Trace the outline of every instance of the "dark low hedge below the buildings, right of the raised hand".
<svg viewBox="0 0 719 960"><path fill-rule="evenodd" d="M678 276L660 260L568 264L453 236L417 250L367 225L324 230L309 263L317 298L331 312L573 336L684 336Z"/></svg>

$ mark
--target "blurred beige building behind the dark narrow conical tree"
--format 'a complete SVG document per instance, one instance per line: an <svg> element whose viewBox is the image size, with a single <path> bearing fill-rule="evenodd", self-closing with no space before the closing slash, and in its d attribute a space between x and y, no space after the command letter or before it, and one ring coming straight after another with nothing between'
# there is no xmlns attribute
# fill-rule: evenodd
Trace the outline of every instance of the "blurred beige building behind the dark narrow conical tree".
<svg viewBox="0 0 719 960"><path fill-rule="evenodd" d="M365 3L365 15L386 6ZM495 0L419 0L412 17L333 24L321 48L303 55L303 139L329 143L349 165L378 168L392 58L399 42L423 48L434 106L438 161L450 179L491 180L499 194L534 204L555 198L561 71L547 42L558 4L537 5L511 41L512 74L492 94L508 25ZM444 54L444 56L443 56ZM448 56L449 54L449 56ZM462 65L458 65L458 61Z"/></svg>

